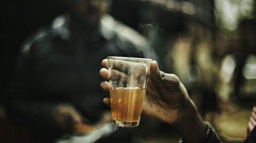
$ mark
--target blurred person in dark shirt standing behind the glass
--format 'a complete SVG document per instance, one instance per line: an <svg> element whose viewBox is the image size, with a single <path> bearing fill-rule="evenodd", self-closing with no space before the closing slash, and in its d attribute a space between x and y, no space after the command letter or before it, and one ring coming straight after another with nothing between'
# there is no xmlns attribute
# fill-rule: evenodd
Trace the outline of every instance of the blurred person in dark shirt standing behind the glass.
<svg viewBox="0 0 256 143"><path fill-rule="evenodd" d="M68 12L24 43L7 91L8 119L30 127L41 142L53 142L63 134L87 134L110 122L104 116L109 109L100 102L101 59L156 58L141 35L106 14L111 1L59 3Z"/></svg>

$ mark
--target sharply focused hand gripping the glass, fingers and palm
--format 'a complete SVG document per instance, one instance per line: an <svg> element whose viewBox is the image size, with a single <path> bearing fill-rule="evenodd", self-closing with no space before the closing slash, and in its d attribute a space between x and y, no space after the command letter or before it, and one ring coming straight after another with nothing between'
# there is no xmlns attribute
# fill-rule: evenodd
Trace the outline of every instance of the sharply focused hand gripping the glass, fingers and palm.
<svg viewBox="0 0 256 143"><path fill-rule="evenodd" d="M106 68L107 61L102 61ZM103 78L108 79L109 71L105 68L100 70ZM109 90L109 83L103 81L101 87ZM109 104L109 99L104 99ZM157 62L151 63L150 79L146 89L142 111L171 125L176 124L184 110L192 105L186 89L174 74L166 74L159 71Z"/></svg>

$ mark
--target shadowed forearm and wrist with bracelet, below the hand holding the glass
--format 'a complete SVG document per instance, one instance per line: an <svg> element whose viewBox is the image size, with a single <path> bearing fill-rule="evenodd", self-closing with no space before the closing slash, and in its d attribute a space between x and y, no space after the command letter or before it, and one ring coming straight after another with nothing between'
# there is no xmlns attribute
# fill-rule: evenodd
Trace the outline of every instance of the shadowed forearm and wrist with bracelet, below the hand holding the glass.
<svg viewBox="0 0 256 143"><path fill-rule="evenodd" d="M187 106L174 127L181 136L180 143L222 143L215 129L205 122L193 101L187 100Z"/></svg>

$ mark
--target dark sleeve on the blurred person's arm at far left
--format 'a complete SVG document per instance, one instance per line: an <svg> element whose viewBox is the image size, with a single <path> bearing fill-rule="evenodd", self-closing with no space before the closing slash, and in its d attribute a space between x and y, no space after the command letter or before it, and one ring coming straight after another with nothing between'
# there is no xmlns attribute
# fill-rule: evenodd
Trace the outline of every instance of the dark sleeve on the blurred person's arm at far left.
<svg viewBox="0 0 256 143"><path fill-rule="evenodd" d="M27 47L26 47L27 46ZM49 95L38 91L38 44L29 43L21 49L16 73L7 89L6 112L9 120L36 130L56 130L52 111L57 103L49 100Z"/></svg>

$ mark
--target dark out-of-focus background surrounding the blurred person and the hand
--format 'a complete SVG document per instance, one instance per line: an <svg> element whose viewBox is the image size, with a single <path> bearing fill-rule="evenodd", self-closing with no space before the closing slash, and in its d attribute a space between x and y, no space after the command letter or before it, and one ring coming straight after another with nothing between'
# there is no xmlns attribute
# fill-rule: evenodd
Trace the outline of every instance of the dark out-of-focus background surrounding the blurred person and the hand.
<svg viewBox="0 0 256 143"><path fill-rule="evenodd" d="M0 3L0 142L33 142L5 115L6 87L23 42L65 9L49 0ZM256 101L255 8L254 0L113 0L110 14L147 39L162 71L178 75L224 142L242 142ZM138 142L178 140L159 124Z"/></svg>

